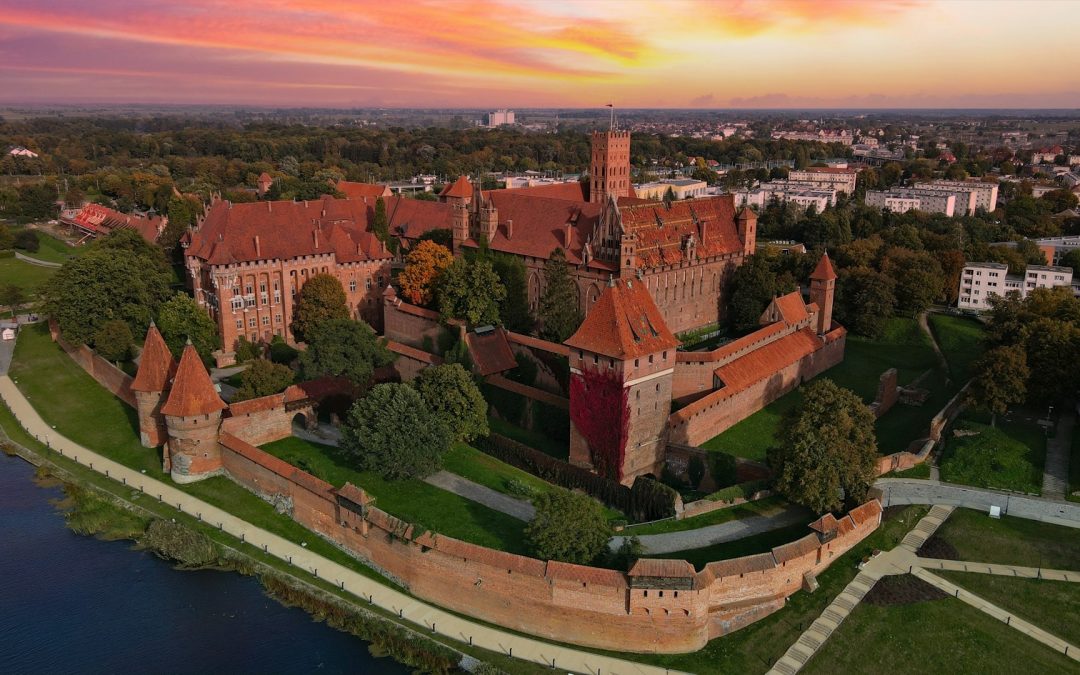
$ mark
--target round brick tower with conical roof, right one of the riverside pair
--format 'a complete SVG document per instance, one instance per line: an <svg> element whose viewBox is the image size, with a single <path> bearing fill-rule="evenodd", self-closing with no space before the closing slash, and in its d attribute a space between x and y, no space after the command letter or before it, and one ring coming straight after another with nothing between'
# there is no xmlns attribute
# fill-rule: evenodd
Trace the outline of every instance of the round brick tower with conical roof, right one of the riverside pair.
<svg viewBox="0 0 1080 675"><path fill-rule="evenodd" d="M193 483L221 471L217 440L221 410L226 407L199 352L188 342L176 367L168 399L161 406L168 433L164 469L174 481Z"/></svg>

